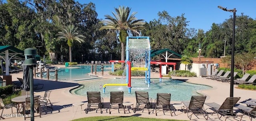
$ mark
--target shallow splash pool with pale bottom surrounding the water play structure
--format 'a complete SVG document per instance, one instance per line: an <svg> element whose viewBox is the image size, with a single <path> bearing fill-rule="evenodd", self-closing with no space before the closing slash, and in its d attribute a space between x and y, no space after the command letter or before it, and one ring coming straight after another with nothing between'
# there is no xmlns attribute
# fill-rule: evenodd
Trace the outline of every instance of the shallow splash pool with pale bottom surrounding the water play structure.
<svg viewBox="0 0 256 121"><path fill-rule="evenodd" d="M126 86L106 86L106 93L103 93L102 85L106 83L126 83L125 79L102 79L98 81L88 81L81 83L82 86L71 91L71 93L87 96L87 91L100 91L102 97L110 97L110 91L124 91L124 96L135 97L135 91L148 91L152 99L156 99L156 93L171 93L172 101L189 101L192 95L200 95L196 91L210 89L206 85L187 83L176 79L150 79L150 87L147 86L144 79L132 79L132 92L128 93Z"/></svg>

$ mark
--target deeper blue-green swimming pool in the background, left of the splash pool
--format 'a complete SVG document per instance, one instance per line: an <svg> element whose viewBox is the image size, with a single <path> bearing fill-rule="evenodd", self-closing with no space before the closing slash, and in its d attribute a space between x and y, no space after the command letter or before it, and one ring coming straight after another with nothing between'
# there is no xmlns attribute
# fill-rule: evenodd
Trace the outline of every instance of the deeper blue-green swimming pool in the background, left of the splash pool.
<svg viewBox="0 0 256 121"><path fill-rule="evenodd" d="M59 81L80 81L89 78L95 78L95 76L89 76L88 73L91 72L91 65L77 65L72 67L80 67L80 68L66 68L59 67L58 69L58 80ZM104 71L110 71L107 67L111 67L111 65L104 65ZM97 71L101 71L101 65L97 65ZM94 66L93 66L94 71ZM55 79L54 71L49 73L50 79ZM46 78L46 73L43 73L43 77Z"/></svg>

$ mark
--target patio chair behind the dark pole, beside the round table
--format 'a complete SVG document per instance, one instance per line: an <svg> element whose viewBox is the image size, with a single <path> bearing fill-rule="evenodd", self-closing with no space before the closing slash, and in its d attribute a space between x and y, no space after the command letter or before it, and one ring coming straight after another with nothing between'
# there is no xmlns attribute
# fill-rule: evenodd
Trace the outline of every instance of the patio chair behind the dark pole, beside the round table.
<svg viewBox="0 0 256 121"><path fill-rule="evenodd" d="M30 103L30 97L26 97L26 101L25 101L25 107L24 107L24 111L23 111L23 114L24 114L24 120L26 120L26 110L30 110L30 106L31 106L31 103ZM39 113L39 117L41 117L41 109L40 109L40 103L39 103L39 100L38 100L38 97L34 97L34 109L36 109L36 111Z"/></svg>

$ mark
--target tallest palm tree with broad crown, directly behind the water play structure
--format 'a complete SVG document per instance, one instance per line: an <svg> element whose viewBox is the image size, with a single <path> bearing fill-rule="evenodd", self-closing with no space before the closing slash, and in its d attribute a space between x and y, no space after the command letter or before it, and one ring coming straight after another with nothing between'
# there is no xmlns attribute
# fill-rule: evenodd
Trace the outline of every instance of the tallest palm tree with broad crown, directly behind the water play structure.
<svg viewBox="0 0 256 121"><path fill-rule="evenodd" d="M121 60L125 60L125 43L126 36L128 34L140 35L139 30L145 30L143 26L145 22L142 19L137 19L135 14L137 12L133 12L130 17L131 9L129 7L119 6L119 8L114 8L116 13L112 12L114 17L110 15L105 15L105 19L102 23L105 26L102 26L99 30L109 30L109 32L116 32L119 34L119 40L121 42ZM124 64L122 64L122 68L124 68Z"/></svg>

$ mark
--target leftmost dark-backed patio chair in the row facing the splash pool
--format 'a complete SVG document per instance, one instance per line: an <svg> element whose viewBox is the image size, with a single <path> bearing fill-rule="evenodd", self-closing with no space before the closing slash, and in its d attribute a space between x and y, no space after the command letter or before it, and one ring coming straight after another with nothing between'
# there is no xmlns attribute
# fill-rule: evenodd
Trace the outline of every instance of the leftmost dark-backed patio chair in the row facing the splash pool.
<svg viewBox="0 0 256 121"><path fill-rule="evenodd" d="M100 109L100 113L102 113L103 98L100 97L99 91L87 91L87 99L88 99L88 104L87 104L87 108L85 109L86 114L92 109L96 109L96 113L98 109Z"/></svg>

